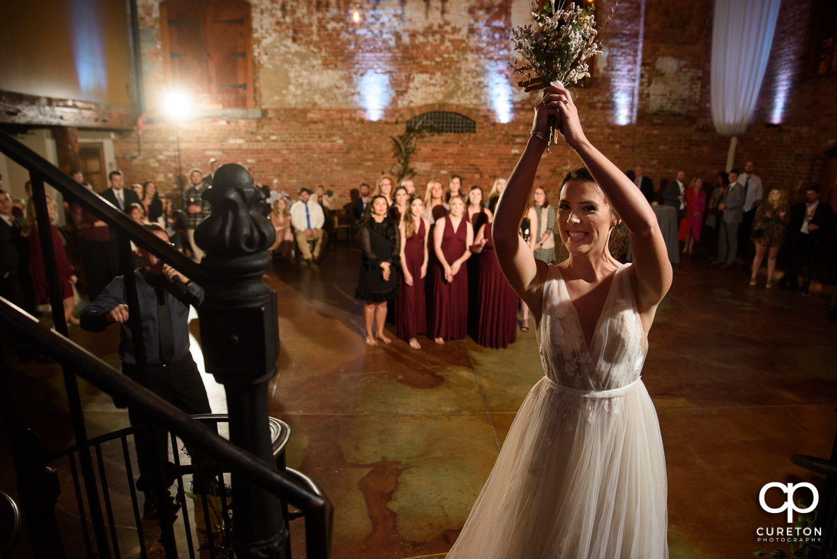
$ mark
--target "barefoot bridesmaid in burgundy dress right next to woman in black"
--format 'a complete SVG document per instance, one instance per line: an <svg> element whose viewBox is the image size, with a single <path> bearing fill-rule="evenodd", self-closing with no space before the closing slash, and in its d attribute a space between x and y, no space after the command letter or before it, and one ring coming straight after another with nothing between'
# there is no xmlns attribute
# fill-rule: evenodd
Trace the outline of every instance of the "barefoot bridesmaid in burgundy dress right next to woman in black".
<svg viewBox="0 0 837 559"><path fill-rule="evenodd" d="M399 187L400 188L400 187ZM424 277L427 275L430 223L422 216L424 200L409 197L401 228L401 289L395 301L395 335L421 349L417 336L427 332Z"/></svg>

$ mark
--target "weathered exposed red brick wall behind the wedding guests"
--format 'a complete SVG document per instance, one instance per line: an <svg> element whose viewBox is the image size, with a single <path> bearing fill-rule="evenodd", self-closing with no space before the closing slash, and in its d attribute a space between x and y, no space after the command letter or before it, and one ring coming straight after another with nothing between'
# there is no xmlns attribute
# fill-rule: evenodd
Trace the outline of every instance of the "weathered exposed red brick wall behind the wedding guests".
<svg viewBox="0 0 837 559"><path fill-rule="evenodd" d="M614 125L614 80L635 76L624 65L636 64L639 2L620 2L601 33L608 56L596 62L593 77L578 89L583 124L594 144L621 168L641 163L655 182L681 168L690 176L713 180L726 162L729 144L711 130L709 0L683 6L645 0L637 124ZM599 3L598 17L606 18L613 4ZM756 121L739 139L737 165L755 159L768 186L798 187L816 180L822 151L837 137L833 79L793 78L782 126L764 127L778 76L801 64L807 30L801 22L807 20L808 8L800 11L800 4L783 0ZM172 188L177 126L184 173L193 166L206 170L208 158L218 156L253 168L260 181L280 178L289 192L324 184L336 191L337 203L346 203L351 188L374 181L393 164L390 136L402 133L410 117L428 110L467 115L476 121L477 131L419 141L413 159L419 192L430 179L444 180L454 173L466 185L485 188L494 178L508 176L528 140L531 106L537 101L537 94L512 90L507 99L513 120L506 124L498 122L491 102L491 76L507 75L503 66L510 56L506 37L512 0L381 0L375 11L371 3L362 4L362 33L348 23L352 6L341 0L254 0L256 105L262 118L220 117L174 125L155 110L165 89L157 2L141 0L146 103L153 122L141 131L136 159L126 158L136 155L136 133L115 142L117 164L128 180L152 179L163 190ZM357 92L357 76L369 70L389 76L392 99L380 121L366 120ZM559 145L542 160L537 183L556 185L578 164Z"/></svg>

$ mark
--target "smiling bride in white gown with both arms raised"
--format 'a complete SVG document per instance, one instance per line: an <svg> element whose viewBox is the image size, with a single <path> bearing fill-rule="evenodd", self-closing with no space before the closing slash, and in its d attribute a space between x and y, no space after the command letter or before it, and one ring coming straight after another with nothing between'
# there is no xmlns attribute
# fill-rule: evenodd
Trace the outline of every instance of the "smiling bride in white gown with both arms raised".
<svg viewBox="0 0 837 559"><path fill-rule="evenodd" d="M586 167L562 183L555 229L570 256L557 265L534 259L517 234L547 115ZM624 227L634 264L608 249ZM584 136L560 85L536 107L492 233L503 273L535 317L545 377L517 413L448 558L667 558L665 455L640 373L671 266L649 204Z"/></svg>

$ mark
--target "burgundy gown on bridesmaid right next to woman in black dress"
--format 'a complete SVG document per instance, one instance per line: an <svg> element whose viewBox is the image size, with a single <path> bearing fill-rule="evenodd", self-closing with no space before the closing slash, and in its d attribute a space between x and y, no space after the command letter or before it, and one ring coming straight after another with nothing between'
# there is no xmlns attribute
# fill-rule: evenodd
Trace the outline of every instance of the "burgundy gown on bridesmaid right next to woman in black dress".
<svg viewBox="0 0 837 559"><path fill-rule="evenodd" d="M424 219L419 221L419 230L407 238L404 244L404 265L413 276L413 285L401 278L401 290L395 300L395 335L410 340L427 332L427 305L424 298L424 278L421 265L424 263Z"/></svg>

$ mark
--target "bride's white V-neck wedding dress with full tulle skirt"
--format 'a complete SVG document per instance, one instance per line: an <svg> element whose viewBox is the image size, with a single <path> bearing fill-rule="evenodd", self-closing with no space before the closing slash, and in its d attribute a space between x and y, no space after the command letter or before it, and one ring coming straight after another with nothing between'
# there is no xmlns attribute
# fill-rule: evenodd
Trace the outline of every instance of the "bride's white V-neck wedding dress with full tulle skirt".
<svg viewBox="0 0 837 559"><path fill-rule="evenodd" d="M665 559L660 423L629 264L588 348L557 266L537 331L546 376L517 413L448 559Z"/></svg>

